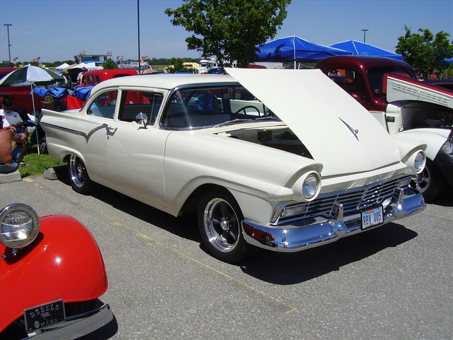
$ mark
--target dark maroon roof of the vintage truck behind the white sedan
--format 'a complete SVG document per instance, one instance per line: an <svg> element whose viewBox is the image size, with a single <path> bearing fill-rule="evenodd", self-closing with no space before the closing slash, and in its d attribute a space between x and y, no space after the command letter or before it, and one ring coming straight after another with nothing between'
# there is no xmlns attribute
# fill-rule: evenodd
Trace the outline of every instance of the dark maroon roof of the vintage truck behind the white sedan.
<svg viewBox="0 0 453 340"><path fill-rule="evenodd" d="M406 66L412 70L412 66L402 60L393 58L369 56L369 55L336 55L322 59L316 65L317 69L322 69L330 64L351 65L355 67L363 67L365 70L369 67L376 66Z"/></svg>

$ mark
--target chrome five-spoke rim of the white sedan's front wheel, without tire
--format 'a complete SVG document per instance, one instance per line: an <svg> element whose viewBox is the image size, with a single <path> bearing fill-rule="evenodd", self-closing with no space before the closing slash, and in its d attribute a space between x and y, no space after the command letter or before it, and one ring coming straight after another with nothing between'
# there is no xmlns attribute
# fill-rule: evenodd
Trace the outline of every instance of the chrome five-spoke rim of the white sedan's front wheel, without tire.
<svg viewBox="0 0 453 340"><path fill-rule="evenodd" d="M238 216L228 201L212 198L204 209L203 221L204 232L215 249L229 252L236 247L241 229Z"/></svg>

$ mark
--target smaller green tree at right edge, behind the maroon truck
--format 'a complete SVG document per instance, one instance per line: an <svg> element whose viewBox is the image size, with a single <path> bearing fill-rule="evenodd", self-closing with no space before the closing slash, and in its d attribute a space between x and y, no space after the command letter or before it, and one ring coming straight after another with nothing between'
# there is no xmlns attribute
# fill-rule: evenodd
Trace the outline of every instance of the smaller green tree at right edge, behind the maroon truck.
<svg viewBox="0 0 453 340"><path fill-rule="evenodd" d="M411 64L416 72L443 72L447 65L441 61L453 55L453 45L448 40L449 34L440 31L434 36L428 29L420 28L420 33L412 33L407 26L404 26L404 29L406 34L398 38L396 52L402 54L404 60Z"/></svg>

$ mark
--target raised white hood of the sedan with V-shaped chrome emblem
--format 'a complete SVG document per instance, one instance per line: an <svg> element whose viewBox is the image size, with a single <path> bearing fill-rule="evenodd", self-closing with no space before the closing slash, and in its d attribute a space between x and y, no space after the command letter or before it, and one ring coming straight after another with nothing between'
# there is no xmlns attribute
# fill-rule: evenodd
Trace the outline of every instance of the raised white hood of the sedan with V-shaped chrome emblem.
<svg viewBox="0 0 453 340"><path fill-rule="evenodd" d="M401 160L389 133L320 70L226 70L289 126L324 165L323 176Z"/></svg>

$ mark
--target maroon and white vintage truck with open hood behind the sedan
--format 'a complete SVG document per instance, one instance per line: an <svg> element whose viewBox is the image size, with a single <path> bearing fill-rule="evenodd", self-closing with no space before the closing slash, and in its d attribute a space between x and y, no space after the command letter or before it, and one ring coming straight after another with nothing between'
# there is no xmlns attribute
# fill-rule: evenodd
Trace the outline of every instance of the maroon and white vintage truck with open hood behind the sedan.
<svg viewBox="0 0 453 340"><path fill-rule="evenodd" d="M390 134L404 133L427 145L425 170L413 181L433 200L453 187L453 91L415 79L401 60L371 56L332 56L317 69L355 98Z"/></svg>

